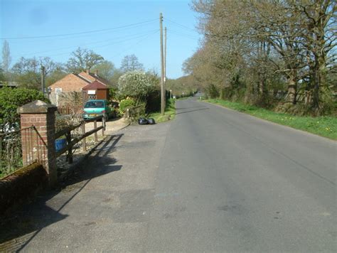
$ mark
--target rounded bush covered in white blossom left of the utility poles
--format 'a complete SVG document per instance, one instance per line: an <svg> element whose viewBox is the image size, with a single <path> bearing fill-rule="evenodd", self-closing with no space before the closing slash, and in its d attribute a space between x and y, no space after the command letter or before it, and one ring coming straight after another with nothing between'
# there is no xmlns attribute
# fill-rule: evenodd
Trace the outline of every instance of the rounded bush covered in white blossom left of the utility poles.
<svg viewBox="0 0 337 253"><path fill-rule="evenodd" d="M144 72L127 72L118 80L119 94L122 97L133 97L137 100L136 105L144 102L149 92L154 90L156 83Z"/></svg>

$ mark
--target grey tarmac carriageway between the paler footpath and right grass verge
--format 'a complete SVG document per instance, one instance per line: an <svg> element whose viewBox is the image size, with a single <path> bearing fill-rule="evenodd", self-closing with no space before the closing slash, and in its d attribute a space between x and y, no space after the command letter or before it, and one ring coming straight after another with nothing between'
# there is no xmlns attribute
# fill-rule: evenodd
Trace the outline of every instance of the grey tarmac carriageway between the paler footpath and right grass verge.
<svg viewBox="0 0 337 253"><path fill-rule="evenodd" d="M146 250L336 252L336 141L176 102Z"/></svg>

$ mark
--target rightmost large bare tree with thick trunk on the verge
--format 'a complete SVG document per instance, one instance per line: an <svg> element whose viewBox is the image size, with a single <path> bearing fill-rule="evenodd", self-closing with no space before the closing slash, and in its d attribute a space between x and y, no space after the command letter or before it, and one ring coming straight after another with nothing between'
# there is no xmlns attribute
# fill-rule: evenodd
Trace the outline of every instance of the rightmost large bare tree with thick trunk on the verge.
<svg viewBox="0 0 337 253"><path fill-rule="evenodd" d="M320 92L327 88L328 65L336 63L336 1L290 1L292 11L301 16L301 33L306 50L312 90L312 107L319 113Z"/></svg>

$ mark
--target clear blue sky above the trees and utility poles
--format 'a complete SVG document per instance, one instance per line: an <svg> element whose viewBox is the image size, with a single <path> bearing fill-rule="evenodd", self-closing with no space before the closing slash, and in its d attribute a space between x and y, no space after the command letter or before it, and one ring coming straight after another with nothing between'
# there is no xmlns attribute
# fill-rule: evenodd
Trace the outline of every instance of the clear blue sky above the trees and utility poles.
<svg viewBox="0 0 337 253"><path fill-rule="evenodd" d="M21 57L34 56L66 63L80 46L117 68L125 55L134 54L146 70L160 73L162 13L167 28L166 76L178 78L201 38L197 15L189 4L186 0L0 0L0 45L4 39L9 42L11 66Z"/></svg>

